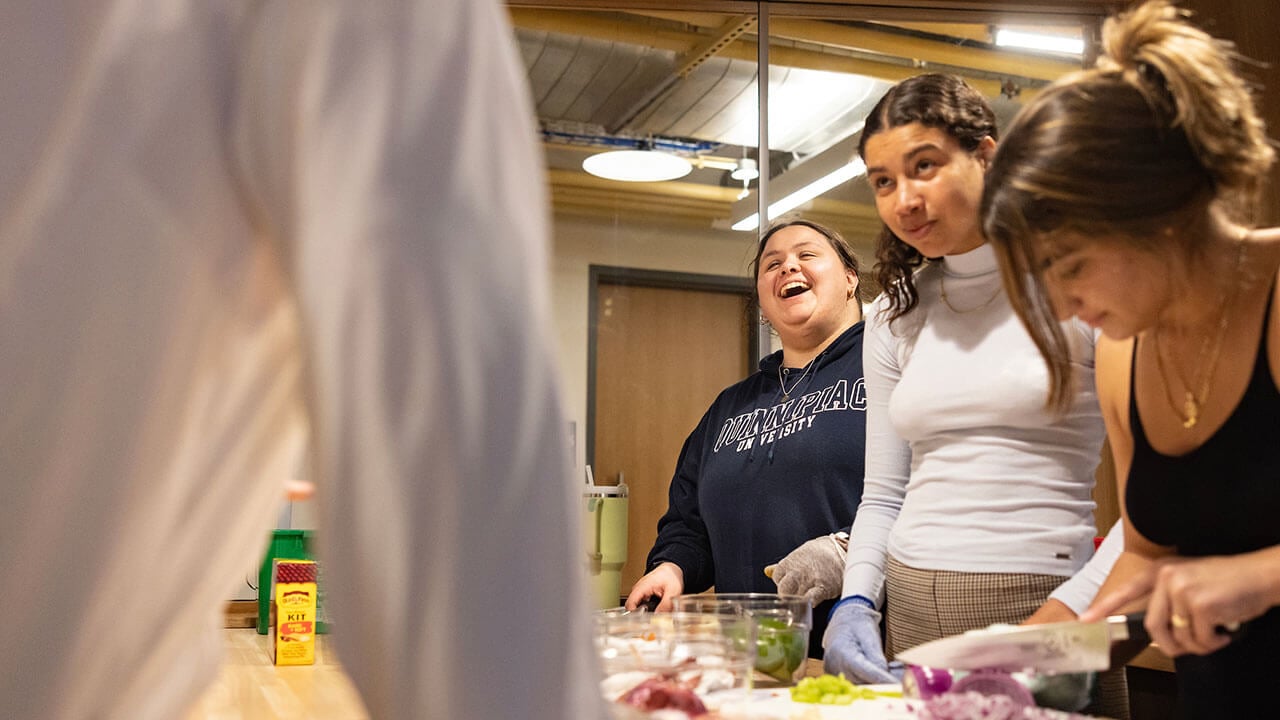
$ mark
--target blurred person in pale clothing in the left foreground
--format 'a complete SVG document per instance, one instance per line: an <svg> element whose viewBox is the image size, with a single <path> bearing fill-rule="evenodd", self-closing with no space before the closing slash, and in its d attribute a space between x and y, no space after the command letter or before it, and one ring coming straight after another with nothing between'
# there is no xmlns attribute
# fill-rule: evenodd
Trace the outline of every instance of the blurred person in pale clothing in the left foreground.
<svg viewBox="0 0 1280 720"><path fill-rule="evenodd" d="M303 442L372 717L603 716L509 38L3 5L0 717L182 717Z"/></svg>

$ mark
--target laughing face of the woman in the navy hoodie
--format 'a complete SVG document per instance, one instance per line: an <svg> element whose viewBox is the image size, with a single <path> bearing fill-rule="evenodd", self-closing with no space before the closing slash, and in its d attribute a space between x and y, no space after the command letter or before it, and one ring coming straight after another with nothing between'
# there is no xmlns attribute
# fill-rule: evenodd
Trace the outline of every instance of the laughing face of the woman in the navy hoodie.
<svg viewBox="0 0 1280 720"><path fill-rule="evenodd" d="M860 318L854 296L858 275L826 236L806 225L788 225L769 237L755 290L760 311L785 348L831 340Z"/></svg>

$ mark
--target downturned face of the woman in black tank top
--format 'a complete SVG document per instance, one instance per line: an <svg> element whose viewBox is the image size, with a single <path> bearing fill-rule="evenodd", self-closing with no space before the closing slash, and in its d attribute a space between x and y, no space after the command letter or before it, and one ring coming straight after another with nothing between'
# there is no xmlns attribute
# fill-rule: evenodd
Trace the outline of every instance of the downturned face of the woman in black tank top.
<svg viewBox="0 0 1280 720"><path fill-rule="evenodd" d="M1114 340L1151 328L1172 299L1170 265L1117 238L1064 233L1046 242L1041 268L1059 319L1079 318Z"/></svg>

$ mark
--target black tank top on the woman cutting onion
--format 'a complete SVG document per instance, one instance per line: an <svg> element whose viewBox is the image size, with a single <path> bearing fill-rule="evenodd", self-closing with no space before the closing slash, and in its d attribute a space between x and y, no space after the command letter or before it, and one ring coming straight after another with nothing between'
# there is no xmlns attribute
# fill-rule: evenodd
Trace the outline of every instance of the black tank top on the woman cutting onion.
<svg viewBox="0 0 1280 720"><path fill-rule="evenodd" d="M1180 456L1162 455L1147 441L1134 392L1134 342L1129 370L1133 462L1125 506L1135 530L1175 547L1179 555L1236 555L1280 544L1280 391L1267 360L1270 316L1271 295L1240 404L1204 445ZM1275 716L1277 648L1280 609L1272 607L1225 648L1175 659L1181 716Z"/></svg>

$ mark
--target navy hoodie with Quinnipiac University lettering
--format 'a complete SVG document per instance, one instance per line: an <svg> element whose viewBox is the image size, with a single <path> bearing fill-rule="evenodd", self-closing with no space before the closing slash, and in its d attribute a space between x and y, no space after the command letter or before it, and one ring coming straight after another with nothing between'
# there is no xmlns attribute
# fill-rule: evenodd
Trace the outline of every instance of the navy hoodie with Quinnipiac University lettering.
<svg viewBox="0 0 1280 720"><path fill-rule="evenodd" d="M765 565L854 521L867 434L863 323L808 375L783 370L786 402L781 363L774 352L721 392L680 451L646 569L675 562L686 593L777 592Z"/></svg>

